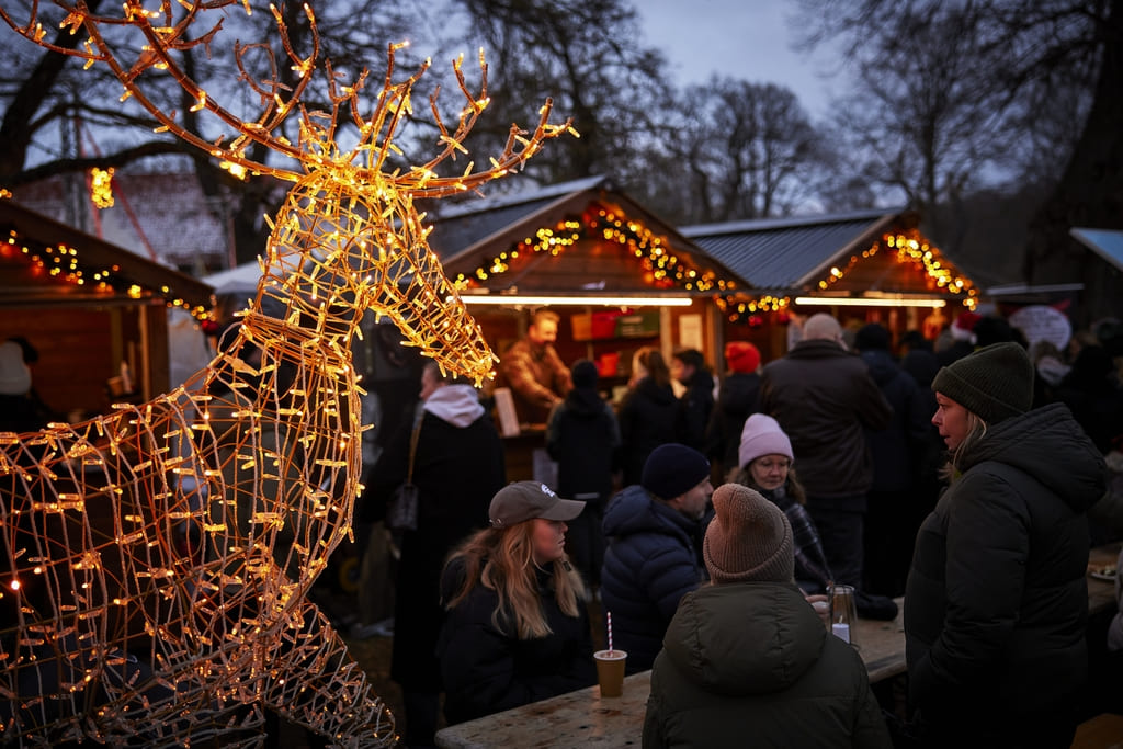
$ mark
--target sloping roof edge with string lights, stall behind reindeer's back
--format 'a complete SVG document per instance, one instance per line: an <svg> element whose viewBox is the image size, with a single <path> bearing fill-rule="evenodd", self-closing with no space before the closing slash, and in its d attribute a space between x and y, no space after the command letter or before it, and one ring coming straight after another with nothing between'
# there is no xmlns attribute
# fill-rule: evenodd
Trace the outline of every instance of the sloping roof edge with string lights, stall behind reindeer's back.
<svg viewBox="0 0 1123 749"><path fill-rule="evenodd" d="M0 200L0 241L6 243L0 253L0 307L139 304L156 298L166 303L180 301L192 310L210 308L209 284L10 200ZM22 252L25 246L29 253ZM60 247L73 254L64 258ZM43 267L37 277L28 273L38 265L34 256ZM60 272L52 275L56 267ZM66 280L79 271L84 284ZM98 287L98 273L107 274L109 286Z"/></svg>

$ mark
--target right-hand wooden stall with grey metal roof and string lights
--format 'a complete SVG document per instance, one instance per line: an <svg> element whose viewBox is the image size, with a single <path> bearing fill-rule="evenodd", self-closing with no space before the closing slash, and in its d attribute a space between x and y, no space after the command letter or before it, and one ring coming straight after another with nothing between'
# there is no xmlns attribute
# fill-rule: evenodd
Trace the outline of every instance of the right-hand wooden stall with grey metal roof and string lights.
<svg viewBox="0 0 1123 749"><path fill-rule="evenodd" d="M920 230L914 211L764 219L682 229L746 281L719 299L728 339L751 340L765 360L787 350L786 323L830 312L851 329L879 322L895 338L934 339L979 291Z"/></svg>

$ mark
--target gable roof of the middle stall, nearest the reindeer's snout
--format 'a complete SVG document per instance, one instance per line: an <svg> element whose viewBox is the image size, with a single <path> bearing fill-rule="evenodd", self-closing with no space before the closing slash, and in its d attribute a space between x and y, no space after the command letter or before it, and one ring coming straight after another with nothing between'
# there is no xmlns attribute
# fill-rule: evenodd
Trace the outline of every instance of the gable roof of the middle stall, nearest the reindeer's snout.
<svg viewBox="0 0 1123 749"><path fill-rule="evenodd" d="M554 229L559 222L572 219L585 212L591 203L600 203L623 216L627 221L641 223L654 235L663 237L665 247L700 272L712 272L722 282L732 282L742 287L743 278L712 258L705 250L684 237L676 228L650 213L622 191L617 190L606 176L590 177L551 185L522 195L475 203L475 210L458 209L446 212L435 219L433 230L429 236L429 245L441 258L445 272L450 276L457 273L473 277L477 266L485 258L499 256L518 243L535 237L539 229ZM622 256L621 256L622 257ZM620 278L621 257L611 258L605 254L581 254L566 250L557 258L536 261L533 272L521 276L522 285L541 285L547 282L557 286L558 291L569 289L567 284L577 283L581 276L584 282L595 282L601 271L612 271L601 265L608 263L615 268L614 277ZM638 261L629 256L623 258L631 263ZM565 268L563 271L563 267ZM554 274L549 280L544 273ZM640 273L629 271L631 281L628 290L645 289ZM500 285L518 284L515 278L493 278L487 286L499 291ZM549 285L549 284L547 284ZM605 289L610 289L605 286ZM626 289L618 286L615 291Z"/></svg>

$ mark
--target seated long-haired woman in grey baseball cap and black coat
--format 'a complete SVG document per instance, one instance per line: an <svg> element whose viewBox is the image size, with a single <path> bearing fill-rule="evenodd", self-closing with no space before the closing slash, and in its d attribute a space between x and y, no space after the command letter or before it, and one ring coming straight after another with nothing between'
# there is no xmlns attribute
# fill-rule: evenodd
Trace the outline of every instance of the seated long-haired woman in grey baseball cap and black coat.
<svg viewBox="0 0 1123 749"><path fill-rule="evenodd" d="M491 528L449 556L437 646L449 723L595 683L587 595L565 552L566 521L584 506L539 482L509 484Z"/></svg>

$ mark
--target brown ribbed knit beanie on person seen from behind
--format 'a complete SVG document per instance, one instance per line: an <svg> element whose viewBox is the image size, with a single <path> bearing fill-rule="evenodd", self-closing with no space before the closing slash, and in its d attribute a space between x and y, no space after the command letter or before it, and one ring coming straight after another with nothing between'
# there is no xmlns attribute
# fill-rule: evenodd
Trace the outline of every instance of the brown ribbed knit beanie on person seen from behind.
<svg viewBox="0 0 1123 749"><path fill-rule="evenodd" d="M740 484L713 493L716 513L702 542L714 583L788 583L795 574L792 524L779 508Z"/></svg>

